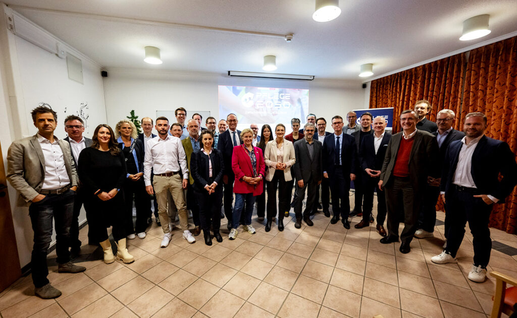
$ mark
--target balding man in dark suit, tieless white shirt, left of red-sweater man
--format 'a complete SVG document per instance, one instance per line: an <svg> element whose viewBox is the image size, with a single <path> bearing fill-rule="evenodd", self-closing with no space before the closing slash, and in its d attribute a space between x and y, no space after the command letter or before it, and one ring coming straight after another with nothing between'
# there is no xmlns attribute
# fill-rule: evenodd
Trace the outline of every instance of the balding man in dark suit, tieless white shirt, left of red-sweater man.
<svg viewBox="0 0 517 318"><path fill-rule="evenodd" d="M386 236L384 221L386 220L386 198L384 191L379 190L378 182L381 176L384 156L391 134L386 132L386 119L377 116L373 120L373 134L364 136L359 148L359 164L362 173L362 188L364 193L364 205L362 209L362 220L354 226L361 229L370 226L370 216L373 210L373 192L377 192L377 232ZM356 179L357 180L357 179Z"/></svg>

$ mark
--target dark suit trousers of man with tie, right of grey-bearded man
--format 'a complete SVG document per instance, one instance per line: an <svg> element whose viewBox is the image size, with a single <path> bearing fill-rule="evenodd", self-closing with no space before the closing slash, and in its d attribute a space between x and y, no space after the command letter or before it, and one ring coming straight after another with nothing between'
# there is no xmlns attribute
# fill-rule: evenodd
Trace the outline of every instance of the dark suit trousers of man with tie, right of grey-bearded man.
<svg viewBox="0 0 517 318"><path fill-rule="evenodd" d="M340 166L336 166L333 176L328 176L330 184L330 194L332 196L332 213L334 216L339 215L343 220L348 219L350 214L350 199L348 192L350 190L350 177L343 176L343 170Z"/></svg>

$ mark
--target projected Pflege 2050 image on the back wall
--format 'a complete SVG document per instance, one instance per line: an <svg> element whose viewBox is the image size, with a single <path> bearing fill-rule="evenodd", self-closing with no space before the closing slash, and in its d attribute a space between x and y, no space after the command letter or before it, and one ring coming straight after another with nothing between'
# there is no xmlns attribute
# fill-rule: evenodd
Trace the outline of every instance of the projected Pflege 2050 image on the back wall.
<svg viewBox="0 0 517 318"><path fill-rule="evenodd" d="M309 113L309 90L297 88L219 86L219 116L234 113L238 129L251 123L283 123L291 128L291 119L305 122Z"/></svg>

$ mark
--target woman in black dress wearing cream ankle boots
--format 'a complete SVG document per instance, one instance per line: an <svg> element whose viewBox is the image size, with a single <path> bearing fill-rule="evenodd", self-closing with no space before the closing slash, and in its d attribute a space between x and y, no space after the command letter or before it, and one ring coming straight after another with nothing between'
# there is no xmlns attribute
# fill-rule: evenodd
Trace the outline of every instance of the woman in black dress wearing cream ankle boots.
<svg viewBox="0 0 517 318"><path fill-rule="evenodd" d="M89 230L104 251L104 263L115 261L107 227L117 245L117 259L134 262L126 248L124 229L124 193L120 193L126 180L126 162L118 148L113 130L107 124L97 126L92 137L92 147L81 151L78 174L92 209L88 220Z"/></svg>

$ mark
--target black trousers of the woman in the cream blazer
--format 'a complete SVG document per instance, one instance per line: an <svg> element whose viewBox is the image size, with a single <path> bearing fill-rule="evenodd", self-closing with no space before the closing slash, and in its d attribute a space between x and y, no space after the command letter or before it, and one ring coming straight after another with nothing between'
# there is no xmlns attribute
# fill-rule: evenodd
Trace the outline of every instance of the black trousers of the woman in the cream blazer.
<svg viewBox="0 0 517 318"><path fill-rule="evenodd" d="M267 182L267 219L277 216L277 187L278 187L278 219L284 218L284 212L291 210L291 191L293 183L285 181L284 171L276 170L273 179Z"/></svg>

